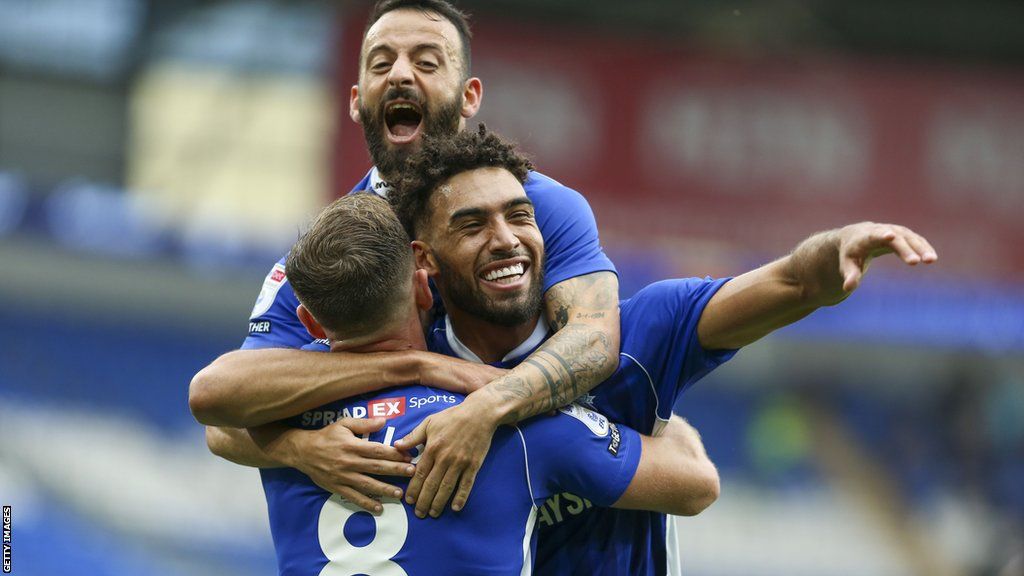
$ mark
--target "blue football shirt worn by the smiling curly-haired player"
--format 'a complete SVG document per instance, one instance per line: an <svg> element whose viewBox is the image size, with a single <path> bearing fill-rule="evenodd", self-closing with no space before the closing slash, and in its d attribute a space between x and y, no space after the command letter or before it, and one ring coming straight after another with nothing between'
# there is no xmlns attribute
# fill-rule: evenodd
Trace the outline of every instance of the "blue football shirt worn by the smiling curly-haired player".
<svg viewBox="0 0 1024 576"><path fill-rule="evenodd" d="M727 281L667 280L623 300L618 369L578 402L656 436L679 396L735 355L705 349L696 330L705 306ZM542 324L498 366L515 366L536 349L546 337ZM432 351L479 361L459 341L446 316L435 320L428 336ZM667 541L670 526L662 513L601 507L563 493L541 507L538 531L538 574L674 573L676 544Z"/></svg>

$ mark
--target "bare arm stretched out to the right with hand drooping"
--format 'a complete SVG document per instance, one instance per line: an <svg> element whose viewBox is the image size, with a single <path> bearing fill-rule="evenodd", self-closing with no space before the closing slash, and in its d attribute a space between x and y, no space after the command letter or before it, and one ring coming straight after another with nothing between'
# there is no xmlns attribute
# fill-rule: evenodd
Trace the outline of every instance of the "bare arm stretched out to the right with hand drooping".
<svg viewBox="0 0 1024 576"><path fill-rule="evenodd" d="M909 265L938 259L924 237L900 225L860 222L816 234L788 256L722 286L697 324L700 344L738 348L837 304L860 285L872 258L889 253Z"/></svg>

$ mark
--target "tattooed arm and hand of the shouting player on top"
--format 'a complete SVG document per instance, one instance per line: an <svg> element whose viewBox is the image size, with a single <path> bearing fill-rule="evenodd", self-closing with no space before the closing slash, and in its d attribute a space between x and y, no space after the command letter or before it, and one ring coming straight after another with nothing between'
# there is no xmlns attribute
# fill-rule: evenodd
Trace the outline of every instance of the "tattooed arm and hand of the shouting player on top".
<svg viewBox="0 0 1024 576"><path fill-rule="evenodd" d="M421 518L428 512L439 516L453 493L452 509L465 505L500 424L564 406L618 366L618 279L614 274L599 272L566 280L548 290L545 300L549 324L557 330L554 335L509 373L395 443L408 450L426 442L407 490L407 501L416 503Z"/></svg>

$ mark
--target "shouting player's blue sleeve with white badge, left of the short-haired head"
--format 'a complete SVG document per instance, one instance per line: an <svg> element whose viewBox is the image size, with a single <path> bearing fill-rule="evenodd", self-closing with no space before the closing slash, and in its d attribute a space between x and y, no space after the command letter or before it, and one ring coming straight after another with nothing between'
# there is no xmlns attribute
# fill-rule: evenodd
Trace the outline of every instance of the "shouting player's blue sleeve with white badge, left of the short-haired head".
<svg viewBox="0 0 1024 576"><path fill-rule="evenodd" d="M285 276L285 258L282 258L263 279L242 349L299 348L308 344L312 336L299 321L295 312L298 307L299 299Z"/></svg>

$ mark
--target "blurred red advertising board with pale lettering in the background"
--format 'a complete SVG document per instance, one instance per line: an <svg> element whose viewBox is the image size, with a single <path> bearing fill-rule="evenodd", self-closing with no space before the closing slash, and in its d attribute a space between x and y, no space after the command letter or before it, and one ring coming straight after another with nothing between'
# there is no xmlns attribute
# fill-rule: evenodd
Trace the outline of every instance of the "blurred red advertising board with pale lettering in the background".
<svg viewBox="0 0 1024 576"><path fill-rule="evenodd" d="M339 91L356 78L345 27ZM919 230L949 273L1024 280L1024 74L851 57L723 57L479 18L478 119L584 193L606 243L779 253L863 219ZM369 160L343 119L340 188Z"/></svg>

